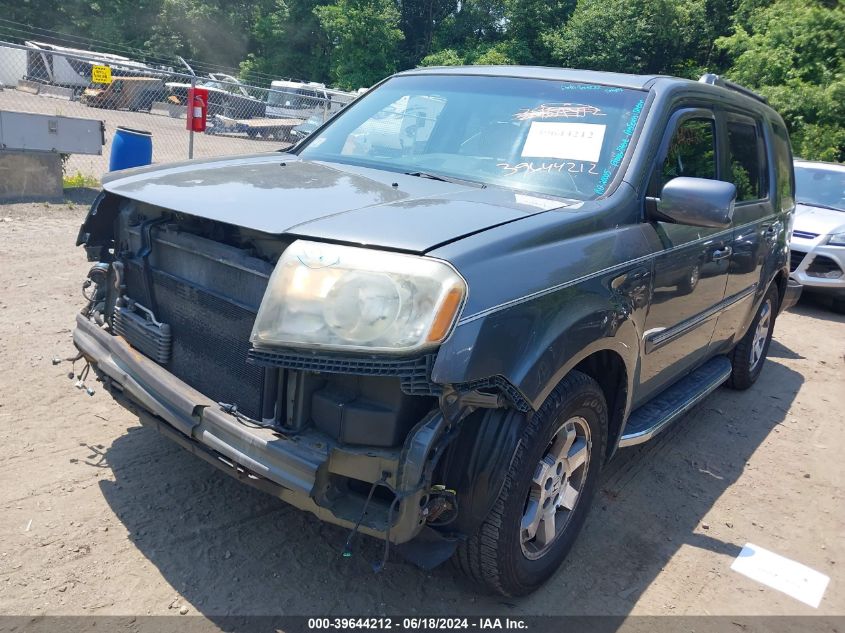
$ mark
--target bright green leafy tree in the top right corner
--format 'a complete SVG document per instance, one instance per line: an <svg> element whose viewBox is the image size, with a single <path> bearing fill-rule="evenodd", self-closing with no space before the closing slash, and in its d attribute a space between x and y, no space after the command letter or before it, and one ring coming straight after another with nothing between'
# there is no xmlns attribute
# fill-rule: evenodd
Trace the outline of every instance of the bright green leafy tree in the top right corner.
<svg viewBox="0 0 845 633"><path fill-rule="evenodd" d="M759 3L757 3L759 4ZM776 0L738 14L717 40L727 76L768 97L795 153L845 160L845 10L838 2Z"/></svg>

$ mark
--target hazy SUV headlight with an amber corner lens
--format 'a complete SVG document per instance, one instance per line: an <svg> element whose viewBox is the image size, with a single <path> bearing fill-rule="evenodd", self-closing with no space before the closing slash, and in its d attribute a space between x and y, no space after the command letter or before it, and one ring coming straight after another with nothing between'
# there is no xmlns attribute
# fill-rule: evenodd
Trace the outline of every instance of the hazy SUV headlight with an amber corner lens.
<svg viewBox="0 0 845 633"><path fill-rule="evenodd" d="M449 335L466 293L463 278L440 260L297 240L270 276L250 340L418 351Z"/></svg>

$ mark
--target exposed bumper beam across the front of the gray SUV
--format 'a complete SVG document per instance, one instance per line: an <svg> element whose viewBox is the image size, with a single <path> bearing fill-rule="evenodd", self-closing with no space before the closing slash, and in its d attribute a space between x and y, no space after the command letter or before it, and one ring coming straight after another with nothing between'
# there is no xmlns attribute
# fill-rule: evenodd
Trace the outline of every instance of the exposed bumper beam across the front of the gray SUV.
<svg viewBox="0 0 845 633"><path fill-rule="evenodd" d="M430 484L424 467L446 426L439 413L423 419L396 449L345 447L318 431L285 436L224 412L83 315L77 316L76 325L74 344L115 400L224 472L349 528L361 519L366 494L339 484L355 480L368 488L384 478L395 496L392 501L374 497L359 531L398 544L422 529L421 506Z"/></svg>

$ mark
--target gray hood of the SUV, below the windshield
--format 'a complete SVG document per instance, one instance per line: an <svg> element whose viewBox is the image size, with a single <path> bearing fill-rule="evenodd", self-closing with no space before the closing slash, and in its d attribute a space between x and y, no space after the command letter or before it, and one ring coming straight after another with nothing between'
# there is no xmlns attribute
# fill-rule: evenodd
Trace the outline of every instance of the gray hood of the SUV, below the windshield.
<svg viewBox="0 0 845 633"><path fill-rule="evenodd" d="M566 206L559 199L498 187L481 189L280 153L125 170L104 177L103 188L266 233L412 252Z"/></svg>

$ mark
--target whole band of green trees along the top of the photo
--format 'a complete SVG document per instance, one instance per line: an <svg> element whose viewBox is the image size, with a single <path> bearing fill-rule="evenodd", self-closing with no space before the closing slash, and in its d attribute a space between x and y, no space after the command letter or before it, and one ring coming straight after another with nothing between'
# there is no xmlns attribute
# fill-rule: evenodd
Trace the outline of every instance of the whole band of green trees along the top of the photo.
<svg viewBox="0 0 845 633"><path fill-rule="evenodd" d="M51 36L264 85L455 64L723 73L768 97L796 153L845 160L842 0L0 0L0 37Z"/></svg>

